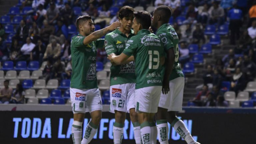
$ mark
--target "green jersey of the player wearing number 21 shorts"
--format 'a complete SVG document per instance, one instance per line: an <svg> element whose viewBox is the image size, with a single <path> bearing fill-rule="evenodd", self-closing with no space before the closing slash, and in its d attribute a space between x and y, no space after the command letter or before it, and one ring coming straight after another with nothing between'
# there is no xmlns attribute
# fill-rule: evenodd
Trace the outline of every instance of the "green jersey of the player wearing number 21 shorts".
<svg viewBox="0 0 256 144"><path fill-rule="evenodd" d="M120 55L124 48L125 44L132 36L134 36L133 30L131 30L130 35L127 37L125 34L120 32L118 29L107 34L105 36L105 50L109 55L111 53L115 53L116 55ZM124 83L134 83L135 76L135 64L134 62L111 66L110 68L110 85L124 84Z"/></svg>

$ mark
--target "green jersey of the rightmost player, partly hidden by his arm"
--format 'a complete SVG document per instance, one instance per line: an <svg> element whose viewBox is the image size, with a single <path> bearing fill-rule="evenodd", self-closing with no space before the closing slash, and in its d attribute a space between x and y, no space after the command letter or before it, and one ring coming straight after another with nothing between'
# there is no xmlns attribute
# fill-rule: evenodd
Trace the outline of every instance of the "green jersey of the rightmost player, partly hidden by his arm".
<svg viewBox="0 0 256 144"><path fill-rule="evenodd" d="M177 77L184 77L179 65L179 38L174 28L169 24L163 24L156 32L156 35L161 39L164 44L164 50L174 49L175 62L170 75L169 80L175 79ZM165 67L162 70L162 76L164 74Z"/></svg>

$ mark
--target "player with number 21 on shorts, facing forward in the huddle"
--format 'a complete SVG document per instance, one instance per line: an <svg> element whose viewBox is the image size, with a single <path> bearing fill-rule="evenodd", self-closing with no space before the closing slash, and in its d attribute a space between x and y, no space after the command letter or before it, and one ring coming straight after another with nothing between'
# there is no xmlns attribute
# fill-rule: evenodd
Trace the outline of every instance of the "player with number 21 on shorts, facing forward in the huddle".
<svg viewBox="0 0 256 144"><path fill-rule="evenodd" d="M114 30L105 36L105 50L108 55L115 53L120 55L126 42L134 36L132 28L134 9L129 6L122 7L118 12L118 19L122 22L122 27ZM134 60L133 56L128 61ZM123 138L123 127L126 112L130 112L133 123L134 137L136 144L141 143L140 124L135 112L135 65L128 62L124 65L112 64L110 71L110 111L115 113L115 123L113 126L114 144L121 144Z"/></svg>

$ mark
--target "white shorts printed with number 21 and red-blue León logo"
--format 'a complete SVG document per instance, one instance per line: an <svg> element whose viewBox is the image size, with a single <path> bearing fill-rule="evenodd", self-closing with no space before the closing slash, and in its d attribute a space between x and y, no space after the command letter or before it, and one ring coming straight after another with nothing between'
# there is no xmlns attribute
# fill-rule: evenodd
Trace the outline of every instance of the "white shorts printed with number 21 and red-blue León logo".
<svg viewBox="0 0 256 144"><path fill-rule="evenodd" d="M134 104L135 83L124 83L110 86L110 112L115 110L122 112L130 112L131 108L135 108Z"/></svg>

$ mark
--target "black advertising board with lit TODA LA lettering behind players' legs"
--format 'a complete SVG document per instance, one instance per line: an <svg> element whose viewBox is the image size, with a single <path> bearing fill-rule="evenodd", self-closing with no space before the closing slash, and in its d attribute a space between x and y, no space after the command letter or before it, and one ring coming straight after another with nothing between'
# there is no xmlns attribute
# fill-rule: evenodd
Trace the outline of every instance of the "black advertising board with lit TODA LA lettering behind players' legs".
<svg viewBox="0 0 256 144"><path fill-rule="evenodd" d="M255 144L256 110L184 108L178 116L192 136L202 144ZM72 144L71 111L0 111L0 144ZM86 114L84 125L88 123ZM102 113L102 120L91 144L112 144L114 114ZM170 126L170 125L169 125ZM129 116L125 122L123 144L133 144ZM83 129L84 131L84 129ZM170 144L185 144L171 128Z"/></svg>

